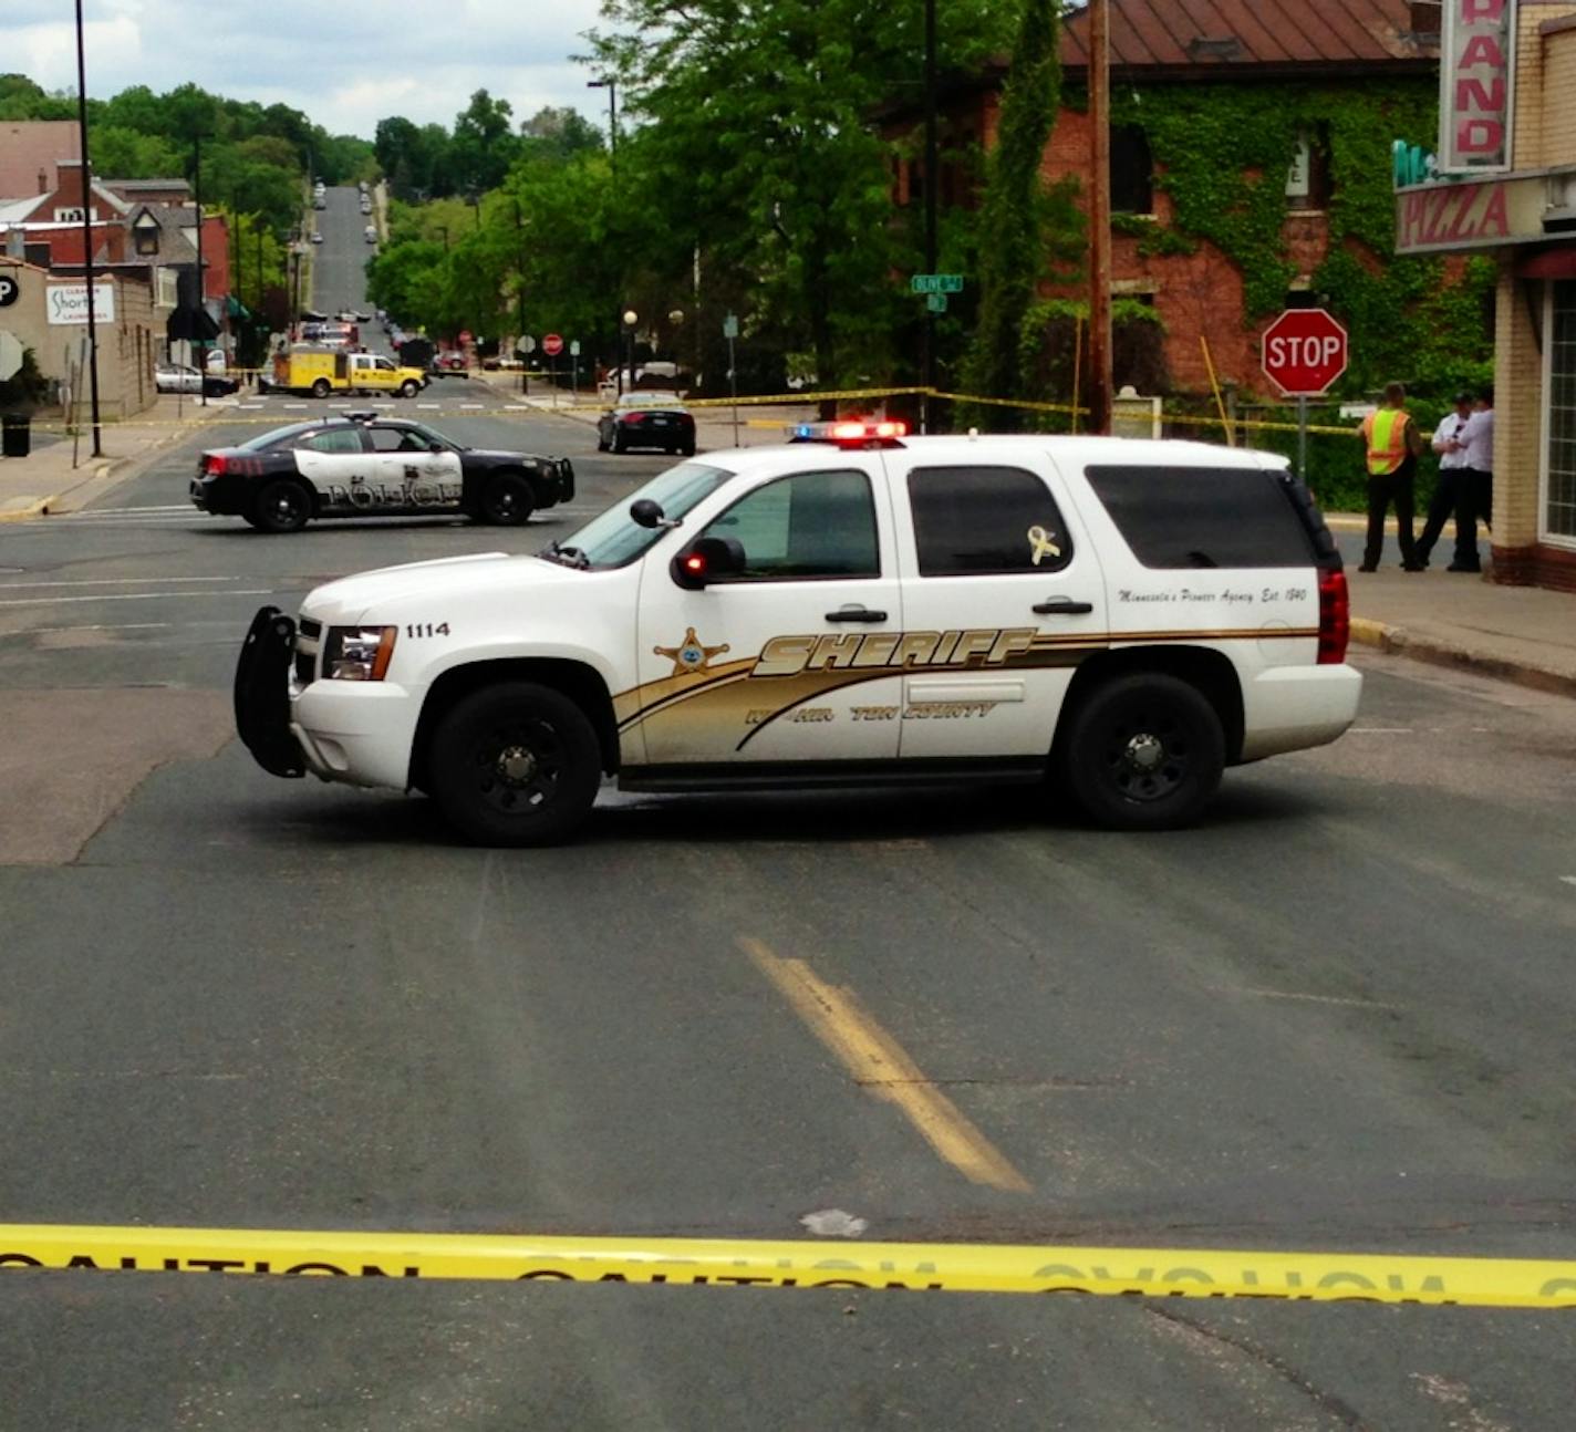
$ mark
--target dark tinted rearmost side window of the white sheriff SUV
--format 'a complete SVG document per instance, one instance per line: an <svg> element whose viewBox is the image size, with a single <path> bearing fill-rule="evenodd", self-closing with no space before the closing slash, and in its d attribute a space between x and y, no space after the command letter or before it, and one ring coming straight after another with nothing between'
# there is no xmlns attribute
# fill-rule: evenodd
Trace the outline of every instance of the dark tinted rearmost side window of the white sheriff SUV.
<svg viewBox="0 0 1576 1432"><path fill-rule="evenodd" d="M1086 468L1146 567L1311 567L1281 474L1262 468Z"/></svg>

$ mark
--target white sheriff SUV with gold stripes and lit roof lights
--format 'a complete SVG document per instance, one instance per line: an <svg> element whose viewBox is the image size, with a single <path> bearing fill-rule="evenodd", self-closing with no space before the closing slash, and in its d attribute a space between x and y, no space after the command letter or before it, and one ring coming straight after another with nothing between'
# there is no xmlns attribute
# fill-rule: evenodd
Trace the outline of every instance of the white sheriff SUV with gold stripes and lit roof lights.
<svg viewBox="0 0 1576 1432"><path fill-rule="evenodd" d="M1357 714L1341 558L1283 458L1196 443L906 438L690 458L534 556L265 607L235 679L276 775L426 791L482 844L632 791L1050 780L1098 824Z"/></svg>

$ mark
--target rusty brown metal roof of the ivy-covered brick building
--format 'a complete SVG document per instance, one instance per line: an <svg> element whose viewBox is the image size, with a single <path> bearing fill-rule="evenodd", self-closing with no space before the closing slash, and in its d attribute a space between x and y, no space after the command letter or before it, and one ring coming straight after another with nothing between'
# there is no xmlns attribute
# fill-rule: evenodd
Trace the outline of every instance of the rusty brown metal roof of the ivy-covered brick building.
<svg viewBox="0 0 1576 1432"><path fill-rule="evenodd" d="M1428 65L1439 35L1414 30L1412 0L1110 0L1111 65L1204 71ZM1437 11L1434 11L1437 14ZM1089 11L1062 20L1062 65L1083 69Z"/></svg>

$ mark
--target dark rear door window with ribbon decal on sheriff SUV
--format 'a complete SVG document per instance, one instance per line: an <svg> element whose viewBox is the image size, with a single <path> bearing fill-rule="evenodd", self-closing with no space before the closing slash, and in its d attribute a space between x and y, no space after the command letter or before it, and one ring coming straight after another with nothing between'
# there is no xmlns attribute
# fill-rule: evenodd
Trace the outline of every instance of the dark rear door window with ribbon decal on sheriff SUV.
<svg viewBox="0 0 1576 1432"><path fill-rule="evenodd" d="M908 501L920 577L1061 572L1073 559L1050 488L1023 468L914 468Z"/></svg>

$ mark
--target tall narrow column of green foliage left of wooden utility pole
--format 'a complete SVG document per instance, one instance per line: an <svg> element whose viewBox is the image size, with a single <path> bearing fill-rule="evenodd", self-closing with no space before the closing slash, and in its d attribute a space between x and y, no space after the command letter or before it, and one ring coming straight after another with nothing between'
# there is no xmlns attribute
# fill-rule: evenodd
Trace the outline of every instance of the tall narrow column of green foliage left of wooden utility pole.
<svg viewBox="0 0 1576 1432"><path fill-rule="evenodd" d="M965 384L991 397L1028 397L1029 365L1020 334L1046 274L1050 208L1040 162L1056 123L1062 68L1057 57L1059 0L1021 0L1012 68L1001 98L996 148L987 161L980 206L980 317L965 361ZM1065 225L1064 213L1064 225ZM1018 425L1021 413L1001 408L998 425Z"/></svg>

